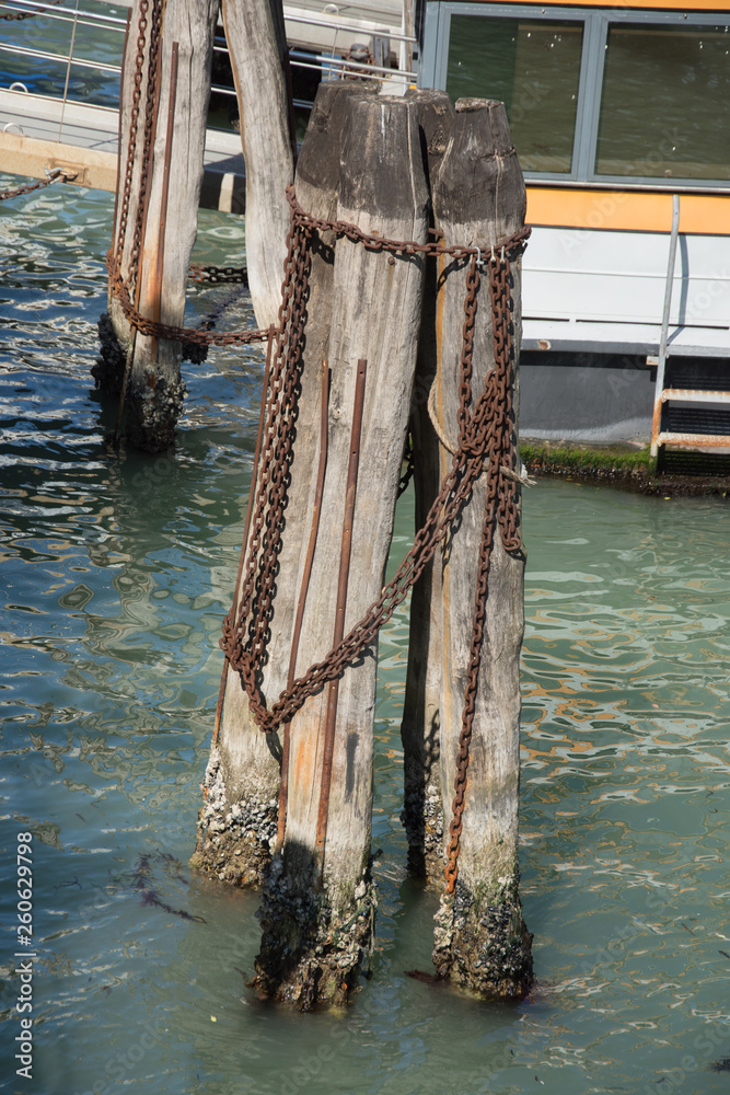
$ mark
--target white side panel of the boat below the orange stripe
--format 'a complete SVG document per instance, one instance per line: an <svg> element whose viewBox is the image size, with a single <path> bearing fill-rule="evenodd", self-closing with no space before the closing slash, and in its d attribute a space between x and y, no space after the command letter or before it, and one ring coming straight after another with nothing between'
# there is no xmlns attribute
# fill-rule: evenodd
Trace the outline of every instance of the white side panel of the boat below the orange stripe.
<svg viewBox="0 0 730 1095"><path fill-rule="evenodd" d="M669 232L533 228L523 258L523 348L656 355L669 247ZM667 353L730 357L727 237L682 235Z"/></svg>

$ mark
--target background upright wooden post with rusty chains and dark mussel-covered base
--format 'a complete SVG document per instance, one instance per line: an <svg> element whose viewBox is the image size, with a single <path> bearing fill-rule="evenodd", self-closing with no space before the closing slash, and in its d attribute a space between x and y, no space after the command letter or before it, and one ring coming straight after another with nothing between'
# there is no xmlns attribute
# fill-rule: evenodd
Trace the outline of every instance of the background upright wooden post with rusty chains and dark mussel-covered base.
<svg viewBox="0 0 730 1095"><path fill-rule="evenodd" d="M121 193L112 253L117 276L130 279L131 304L173 326L183 322L197 231L217 12L216 0L135 0L121 73ZM126 395L127 436L137 448L160 451L174 441L185 391L181 344L130 331L115 285L113 272L109 319L126 371L112 379ZM102 341L114 368L119 358L108 326ZM103 364L96 376L109 387Z"/></svg>

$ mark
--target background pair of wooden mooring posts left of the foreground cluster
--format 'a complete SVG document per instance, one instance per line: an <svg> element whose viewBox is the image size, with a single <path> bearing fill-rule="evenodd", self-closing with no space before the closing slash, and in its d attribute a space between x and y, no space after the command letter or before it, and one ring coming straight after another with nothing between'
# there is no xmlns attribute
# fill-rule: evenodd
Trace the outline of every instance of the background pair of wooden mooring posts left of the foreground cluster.
<svg viewBox="0 0 730 1095"><path fill-rule="evenodd" d="M224 0L223 18L244 130L247 269L254 311L266 330L278 314L285 187L293 171L283 15L280 0ZM185 393L183 353L199 353L185 345L185 332L177 338L164 331L143 334L140 324L162 324L167 332L183 326L217 19L218 0L135 0L123 57L109 303L92 373L102 392L119 400L116 439L124 433L129 445L150 452L174 443ZM125 312L121 283L136 318Z"/></svg>

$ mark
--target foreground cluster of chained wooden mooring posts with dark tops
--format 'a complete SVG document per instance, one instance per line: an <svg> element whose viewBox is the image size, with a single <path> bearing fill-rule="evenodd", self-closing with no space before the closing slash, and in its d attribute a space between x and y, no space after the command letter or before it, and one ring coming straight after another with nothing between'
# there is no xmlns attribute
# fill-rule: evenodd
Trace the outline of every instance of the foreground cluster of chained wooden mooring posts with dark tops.
<svg viewBox="0 0 730 1095"><path fill-rule="evenodd" d="M297 198L194 863L262 886L262 995L348 999L376 904L376 632L416 583L410 867L445 867L439 976L517 999L524 185L503 107L325 85ZM424 528L383 587L408 428Z"/></svg>

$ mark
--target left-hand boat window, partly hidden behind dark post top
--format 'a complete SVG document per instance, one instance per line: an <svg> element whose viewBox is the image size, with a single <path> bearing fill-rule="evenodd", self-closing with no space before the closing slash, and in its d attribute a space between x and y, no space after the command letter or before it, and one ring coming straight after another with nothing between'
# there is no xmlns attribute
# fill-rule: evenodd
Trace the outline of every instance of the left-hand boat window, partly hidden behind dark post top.
<svg viewBox="0 0 730 1095"><path fill-rule="evenodd" d="M447 91L501 100L523 170L567 174L582 43L582 22L454 14Z"/></svg>

